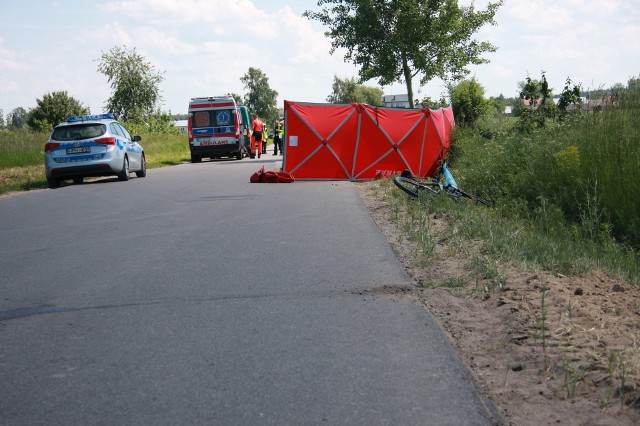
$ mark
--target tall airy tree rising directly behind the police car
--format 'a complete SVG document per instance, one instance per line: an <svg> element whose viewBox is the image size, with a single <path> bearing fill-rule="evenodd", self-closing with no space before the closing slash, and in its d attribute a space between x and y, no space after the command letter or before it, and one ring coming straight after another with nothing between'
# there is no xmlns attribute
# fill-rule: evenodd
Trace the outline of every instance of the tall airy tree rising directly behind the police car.
<svg viewBox="0 0 640 426"><path fill-rule="evenodd" d="M133 48L127 51L116 46L102 52L98 59L98 71L107 76L113 94L105 103L108 112L120 120L143 122L154 113L161 102L159 84L162 73Z"/></svg>

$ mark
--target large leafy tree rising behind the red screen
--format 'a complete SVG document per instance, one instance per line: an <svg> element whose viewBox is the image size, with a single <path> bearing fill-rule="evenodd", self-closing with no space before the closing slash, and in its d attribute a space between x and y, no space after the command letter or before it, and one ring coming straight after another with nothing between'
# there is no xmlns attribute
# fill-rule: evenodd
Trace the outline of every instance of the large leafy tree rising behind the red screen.
<svg viewBox="0 0 640 426"><path fill-rule="evenodd" d="M377 78L382 86L404 81L413 106L412 78L424 85L436 77L456 81L469 64L496 49L471 37L493 16L502 0L486 10L459 6L458 0L318 0L327 5L303 16L329 27L331 53L347 50L345 60L360 66L360 81Z"/></svg>

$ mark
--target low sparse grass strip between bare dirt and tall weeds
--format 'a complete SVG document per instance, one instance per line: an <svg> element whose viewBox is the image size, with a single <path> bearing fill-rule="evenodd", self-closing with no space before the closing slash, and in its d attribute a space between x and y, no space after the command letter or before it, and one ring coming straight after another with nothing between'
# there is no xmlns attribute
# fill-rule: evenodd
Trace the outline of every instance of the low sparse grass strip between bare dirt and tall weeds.
<svg viewBox="0 0 640 426"><path fill-rule="evenodd" d="M487 208L426 192L416 201L395 190L390 181L381 186L396 212L394 221L406 238L416 243L425 264L432 260L436 242L445 240L457 252L476 256L466 252L477 250L485 260L566 275L598 269L640 284L636 251L612 239L585 237L578 224L568 221L562 210L548 201L533 210L524 200ZM446 229L428 225L434 217L446 218Z"/></svg>

